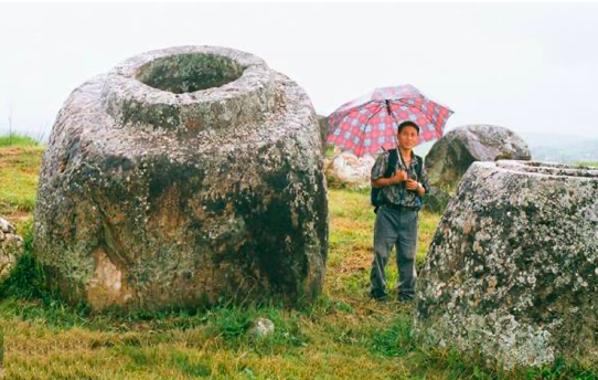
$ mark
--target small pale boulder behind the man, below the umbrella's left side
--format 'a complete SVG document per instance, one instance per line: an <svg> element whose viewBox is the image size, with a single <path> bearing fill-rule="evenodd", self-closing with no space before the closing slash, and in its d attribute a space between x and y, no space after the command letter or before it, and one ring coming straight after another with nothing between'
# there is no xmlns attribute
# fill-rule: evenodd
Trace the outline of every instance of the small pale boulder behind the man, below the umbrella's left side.
<svg viewBox="0 0 598 380"><path fill-rule="evenodd" d="M374 163L375 159L370 155L357 158L349 151L338 151L334 157L327 159L324 167L330 186L365 189L370 186Z"/></svg>

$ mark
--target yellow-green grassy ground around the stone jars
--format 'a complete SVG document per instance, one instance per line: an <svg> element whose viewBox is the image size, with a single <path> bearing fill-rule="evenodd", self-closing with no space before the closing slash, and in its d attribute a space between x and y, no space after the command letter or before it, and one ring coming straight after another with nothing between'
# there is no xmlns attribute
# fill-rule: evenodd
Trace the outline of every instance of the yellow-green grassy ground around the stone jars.
<svg viewBox="0 0 598 380"><path fill-rule="evenodd" d="M0 287L6 379L596 379L595 369L563 362L506 373L473 353L415 340L409 305L366 296L374 222L367 192L330 190L328 273L310 307L131 315L67 307L43 291L30 254L41 154L32 146L0 148L0 214L26 242L18 271ZM438 221L420 214L418 265ZM392 286L396 272L391 264ZM258 316L275 323L269 338L247 334Z"/></svg>

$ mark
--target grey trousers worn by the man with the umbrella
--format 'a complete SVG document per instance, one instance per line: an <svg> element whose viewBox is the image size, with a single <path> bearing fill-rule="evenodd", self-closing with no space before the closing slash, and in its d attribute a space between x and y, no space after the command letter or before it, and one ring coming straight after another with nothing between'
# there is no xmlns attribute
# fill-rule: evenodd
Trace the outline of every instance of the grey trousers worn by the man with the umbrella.
<svg viewBox="0 0 598 380"><path fill-rule="evenodd" d="M398 298L412 299L415 295L415 250L417 244L417 211L380 207L374 226L374 262L370 278L372 294L386 295L386 273L393 245L398 266Z"/></svg>

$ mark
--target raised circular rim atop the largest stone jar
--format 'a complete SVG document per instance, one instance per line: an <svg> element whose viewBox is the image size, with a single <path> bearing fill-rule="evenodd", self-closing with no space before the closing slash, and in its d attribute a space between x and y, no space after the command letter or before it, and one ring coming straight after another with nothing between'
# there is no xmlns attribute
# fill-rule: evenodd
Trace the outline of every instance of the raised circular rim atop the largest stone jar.
<svg viewBox="0 0 598 380"><path fill-rule="evenodd" d="M205 89L174 93L139 80L157 60L204 55L229 60L242 73L236 80ZM274 72L264 60L218 46L175 46L130 57L106 74L102 105L116 125L152 126L200 133L259 122L275 105Z"/></svg>

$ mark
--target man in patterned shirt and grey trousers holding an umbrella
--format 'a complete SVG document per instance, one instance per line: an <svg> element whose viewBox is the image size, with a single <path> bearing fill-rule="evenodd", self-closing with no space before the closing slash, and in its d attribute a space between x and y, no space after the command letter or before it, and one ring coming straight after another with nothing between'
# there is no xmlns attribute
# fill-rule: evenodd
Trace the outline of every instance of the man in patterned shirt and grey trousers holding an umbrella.
<svg viewBox="0 0 598 380"><path fill-rule="evenodd" d="M398 299L407 302L415 296L417 213L421 208L421 197L429 189L424 160L413 152L418 135L417 124L401 123L396 154L392 152L393 149L384 151L372 167L372 187L380 189L375 199L380 208L376 211L374 261L370 276L371 296L377 300L387 299L385 267L393 245L398 266ZM394 163L394 168L388 168L389 163Z"/></svg>

